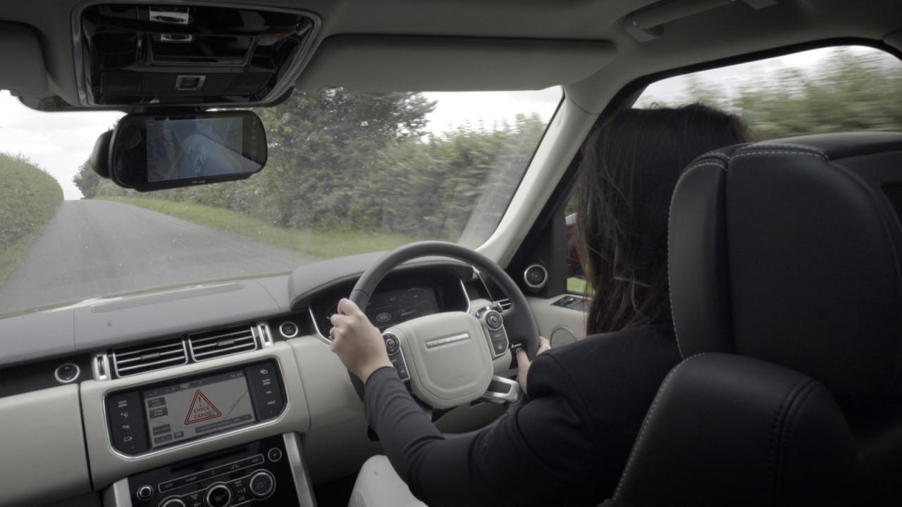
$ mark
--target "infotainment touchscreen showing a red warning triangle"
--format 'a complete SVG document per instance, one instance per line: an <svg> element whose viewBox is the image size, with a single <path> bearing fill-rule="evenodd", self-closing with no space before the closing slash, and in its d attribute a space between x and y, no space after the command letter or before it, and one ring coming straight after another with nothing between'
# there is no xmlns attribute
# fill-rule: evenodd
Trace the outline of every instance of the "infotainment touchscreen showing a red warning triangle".
<svg viewBox="0 0 902 507"><path fill-rule="evenodd" d="M151 447L254 422L244 370L142 392Z"/></svg>

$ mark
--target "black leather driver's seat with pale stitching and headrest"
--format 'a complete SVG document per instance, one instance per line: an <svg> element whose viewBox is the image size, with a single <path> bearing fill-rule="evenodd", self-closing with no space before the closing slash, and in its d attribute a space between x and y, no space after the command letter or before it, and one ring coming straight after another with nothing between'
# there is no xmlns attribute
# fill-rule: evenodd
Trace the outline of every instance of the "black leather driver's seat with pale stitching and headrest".
<svg viewBox="0 0 902 507"><path fill-rule="evenodd" d="M694 161L670 209L686 360L612 505L902 500L902 134Z"/></svg>

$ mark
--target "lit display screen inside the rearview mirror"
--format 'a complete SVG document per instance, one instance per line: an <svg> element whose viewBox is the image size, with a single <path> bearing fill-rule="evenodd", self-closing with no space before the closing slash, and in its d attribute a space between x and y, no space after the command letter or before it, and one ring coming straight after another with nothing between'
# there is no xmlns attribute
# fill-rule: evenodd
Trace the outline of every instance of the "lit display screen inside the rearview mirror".
<svg viewBox="0 0 902 507"><path fill-rule="evenodd" d="M242 156L242 118L147 121L147 182L253 172Z"/></svg>

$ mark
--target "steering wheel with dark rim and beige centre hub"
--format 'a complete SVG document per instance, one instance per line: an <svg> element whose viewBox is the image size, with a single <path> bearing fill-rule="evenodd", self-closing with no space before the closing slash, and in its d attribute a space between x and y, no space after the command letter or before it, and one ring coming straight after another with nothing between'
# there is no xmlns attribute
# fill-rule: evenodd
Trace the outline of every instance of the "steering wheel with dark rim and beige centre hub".
<svg viewBox="0 0 902 507"><path fill-rule="evenodd" d="M387 253L364 272L348 299L365 310L373 290L388 272L426 256L451 257L471 264L511 300L511 308L504 311L490 306L475 316L463 311L437 313L413 318L382 333L391 363L401 379L410 382L417 398L433 409L450 409L481 398L493 382L511 383L501 377L492 379L492 361L507 355L511 346L522 346L529 359L535 358L538 326L523 292L498 264L469 248L441 241L407 244ZM363 400L364 384L354 373L348 374ZM519 392L516 382L506 387ZM504 396L499 398L505 400Z"/></svg>

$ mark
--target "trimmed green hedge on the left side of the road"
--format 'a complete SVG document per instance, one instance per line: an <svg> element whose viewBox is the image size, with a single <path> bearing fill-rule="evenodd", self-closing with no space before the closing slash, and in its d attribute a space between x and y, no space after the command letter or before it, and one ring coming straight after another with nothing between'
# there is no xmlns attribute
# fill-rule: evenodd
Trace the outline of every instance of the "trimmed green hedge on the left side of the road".
<svg viewBox="0 0 902 507"><path fill-rule="evenodd" d="M23 157L0 153L0 282L19 265L61 202L62 188L50 174Z"/></svg>

